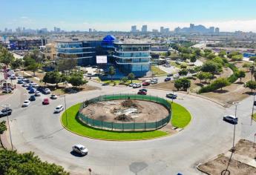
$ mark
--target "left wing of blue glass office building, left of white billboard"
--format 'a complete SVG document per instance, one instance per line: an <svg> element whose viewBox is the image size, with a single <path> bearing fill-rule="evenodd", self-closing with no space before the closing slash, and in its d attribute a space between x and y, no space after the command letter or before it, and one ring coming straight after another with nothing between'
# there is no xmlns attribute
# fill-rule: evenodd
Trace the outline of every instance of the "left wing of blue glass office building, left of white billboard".
<svg viewBox="0 0 256 175"><path fill-rule="evenodd" d="M89 42L56 42L56 59L77 59L77 65L96 65L95 47Z"/></svg>

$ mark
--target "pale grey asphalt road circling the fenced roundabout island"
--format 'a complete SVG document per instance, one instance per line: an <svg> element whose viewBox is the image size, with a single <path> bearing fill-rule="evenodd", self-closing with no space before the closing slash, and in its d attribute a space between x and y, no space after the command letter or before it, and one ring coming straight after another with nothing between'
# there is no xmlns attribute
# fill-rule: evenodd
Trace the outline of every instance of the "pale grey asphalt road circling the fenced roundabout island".
<svg viewBox="0 0 256 175"><path fill-rule="evenodd" d="M91 85L99 86L94 82ZM74 93L66 96L67 106L95 96L109 93L137 93L131 87L102 87L102 90ZM148 90L154 96L165 96L167 91ZM64 97L42 105L45 95L37 97L27 108L20 108L27 92L18 87L7 99L13 107L10 128L13 145L19 152L34 151L43 160L62 165L73 174L200 174L198 163L232 148L234 125L223 122L224 114L234 113L234 106L223 108L206 99L178 93L175 100L193 116L191 124L173 136L134 142L111 142L88 139L66 131L60 123L61 114L53 114L57 105L64 105ZM48 95L49 96L49 95ZM2 102L1 102L2 103ZM250 125L252 96L237 106L239 123L236 142L256 132L255 122ZM72 145L85 145L87 156L75 156Z"/></svg>

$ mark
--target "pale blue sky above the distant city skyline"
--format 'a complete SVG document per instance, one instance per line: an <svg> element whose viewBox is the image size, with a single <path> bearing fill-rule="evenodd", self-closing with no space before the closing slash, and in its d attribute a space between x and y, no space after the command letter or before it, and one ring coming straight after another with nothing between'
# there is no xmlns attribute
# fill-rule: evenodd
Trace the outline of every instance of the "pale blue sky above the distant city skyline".
<svg viewBox="0 0 256 175"><path fill-rule="evenodd" d="M256 0L0 0L0 30L40 29L109 31L188 27L256 32Z"/></svg>

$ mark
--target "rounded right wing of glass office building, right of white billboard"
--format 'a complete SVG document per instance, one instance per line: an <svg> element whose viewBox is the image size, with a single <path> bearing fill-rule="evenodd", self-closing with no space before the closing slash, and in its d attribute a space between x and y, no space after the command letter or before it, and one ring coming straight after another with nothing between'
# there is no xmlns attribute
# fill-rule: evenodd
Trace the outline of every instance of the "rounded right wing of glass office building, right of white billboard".
<svg viewBox="0 0 256 175"><path fill-rule="evenodd" d="M122 73L145 76L151 70L151 44L114 43L115 64Z"/></svg>

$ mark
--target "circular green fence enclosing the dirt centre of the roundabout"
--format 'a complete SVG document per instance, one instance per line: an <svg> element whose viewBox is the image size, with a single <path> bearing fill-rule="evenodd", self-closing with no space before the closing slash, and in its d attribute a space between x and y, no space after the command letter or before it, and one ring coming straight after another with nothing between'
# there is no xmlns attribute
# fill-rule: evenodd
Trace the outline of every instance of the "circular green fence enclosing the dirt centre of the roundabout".
<svg viewBox="0 0 256 175"><path fill-rule="evenodd" d="M150 102L156 102L160 105L163 105L168 110L168 116L164 116L163 119L156 122L104 122L101 120L91 119L88 116L85 116L82 113L82 109L86 108L88 105L102 102L102 101L110 101L116 99L138 99L145 100ZM82 102L78 118L81 122L86 125L90 125L93 128L100 128L102 130L111 130L111 131L154 131L159 128L162 128L171 120L171 104L160 97L157 96L143 96L137 94L112 94L105 96L98 96L93 99L89 99L85 102Z"/></svg>

